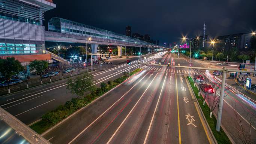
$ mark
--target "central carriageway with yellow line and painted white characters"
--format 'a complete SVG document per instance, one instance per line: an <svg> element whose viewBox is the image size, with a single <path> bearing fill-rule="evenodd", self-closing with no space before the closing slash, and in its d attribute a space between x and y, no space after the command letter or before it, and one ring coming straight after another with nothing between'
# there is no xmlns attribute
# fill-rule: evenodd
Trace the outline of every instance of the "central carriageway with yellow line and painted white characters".
<svg viewBox="0 0 256 144"><path fill-rule="evenodd" d="M173 63L168 56L156 61ZM53 144L210 143L182 71L147 67L43 136Z"/></svg>

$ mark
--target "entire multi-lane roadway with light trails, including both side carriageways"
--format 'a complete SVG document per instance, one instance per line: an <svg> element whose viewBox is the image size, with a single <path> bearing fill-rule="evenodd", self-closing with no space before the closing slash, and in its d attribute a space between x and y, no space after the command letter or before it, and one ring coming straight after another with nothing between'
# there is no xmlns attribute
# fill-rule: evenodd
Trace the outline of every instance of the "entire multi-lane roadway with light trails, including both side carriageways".
<svg viewBox="0 0 256 144"><path fill-rule="evenodd" d="M147 56L144 62L155 59L156 64L189 66L185 56L168 53ZM125 61L125 60L124 60ZM193 61L193 67L205 65ZM132 61L131 69L138 68ZM98 68L92 72L95 83L107 82L122 76L128 65ZM199 74L191 69L191 75ZM203 73L211 80L210 72ZM54 144L83 143L213 143L204 119L196 107L186 76L189 70L179 67L147 65L143 71L82 108L74 116L45 133ZM216 81L217 85L220 82ZM222 128L235 142L239 141L235 120L238 117L255 142L255 107L229 89L223 105ZM30 124L46 111L53 110L76 95L66 91L65 80L0 97L1 107ZM234 112L235 110L235 112ZM214 110L217 114L217 108ZM233 121L232 121L233 120Z"/></svg>

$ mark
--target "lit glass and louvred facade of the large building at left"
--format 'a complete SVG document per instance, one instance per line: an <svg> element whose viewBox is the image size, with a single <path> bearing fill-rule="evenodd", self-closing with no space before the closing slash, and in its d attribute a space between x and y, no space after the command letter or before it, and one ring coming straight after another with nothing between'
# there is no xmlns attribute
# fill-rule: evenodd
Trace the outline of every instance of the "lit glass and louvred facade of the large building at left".
<svg viewBox="0 0 256 144"><path fill-rule="evenodd" d="M45 53L45 0L0 0L0 55Z"/></svg>

